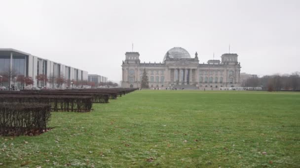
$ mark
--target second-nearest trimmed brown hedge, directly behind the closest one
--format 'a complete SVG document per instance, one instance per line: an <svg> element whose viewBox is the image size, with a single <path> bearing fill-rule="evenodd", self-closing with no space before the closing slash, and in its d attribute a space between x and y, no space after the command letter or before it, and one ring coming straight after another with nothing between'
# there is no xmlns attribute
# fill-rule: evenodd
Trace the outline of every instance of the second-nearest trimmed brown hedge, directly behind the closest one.
<svg viewBox="0 0 300 168"><path fill-rule="evenodd" d="M55 112L89 112L92 100L91 96L0 94L0 103L49 104Z"/></svg>

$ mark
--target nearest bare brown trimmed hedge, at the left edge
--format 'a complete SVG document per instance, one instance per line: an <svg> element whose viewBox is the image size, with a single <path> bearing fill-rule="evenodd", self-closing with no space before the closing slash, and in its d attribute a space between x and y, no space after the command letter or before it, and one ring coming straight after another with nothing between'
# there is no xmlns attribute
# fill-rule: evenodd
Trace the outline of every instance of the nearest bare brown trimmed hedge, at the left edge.
<svg viewBox="0 0 300 168"><path fill-rule="evenodd" d="M0 103L0 135L41 134L51 116L47 104Z"/></svg>

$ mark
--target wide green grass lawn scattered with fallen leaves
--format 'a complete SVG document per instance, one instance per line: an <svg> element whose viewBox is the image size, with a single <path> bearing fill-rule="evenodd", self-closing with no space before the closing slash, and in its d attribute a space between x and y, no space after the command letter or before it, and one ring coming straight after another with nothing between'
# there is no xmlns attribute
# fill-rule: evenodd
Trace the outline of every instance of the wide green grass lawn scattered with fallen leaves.
<svg viewBox="0 0 300 168"><path fill-rule="evenodd" d="M0 137L0 168L300 167L300 93L135 91Z"/></svg>

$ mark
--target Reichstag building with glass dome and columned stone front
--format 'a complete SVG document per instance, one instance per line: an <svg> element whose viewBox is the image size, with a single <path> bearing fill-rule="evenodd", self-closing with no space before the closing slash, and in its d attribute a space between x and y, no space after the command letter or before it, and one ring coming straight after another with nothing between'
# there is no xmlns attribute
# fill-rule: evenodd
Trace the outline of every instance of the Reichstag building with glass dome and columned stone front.
<svg viewBox="0 0 300 168"><path fill-rule="evenodd" d="M198 54L191 57L187 50L174 47L163 61L140 61L138 52L126 52L122 63L122 87L141 87L146 69L150 88L222 89L240 86L241 66L237 54L223 54L220 60L199 63Z"/></svg>

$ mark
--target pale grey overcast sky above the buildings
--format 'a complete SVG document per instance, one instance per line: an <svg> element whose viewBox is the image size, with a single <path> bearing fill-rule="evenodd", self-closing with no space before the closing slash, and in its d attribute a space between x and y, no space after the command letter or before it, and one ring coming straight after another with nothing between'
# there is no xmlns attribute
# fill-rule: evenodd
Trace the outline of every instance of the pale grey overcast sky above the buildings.
<svg viewBox="0 0 300 168"><path fill-rule="evenodd" d="M0 0L0 48L121 79L125 52L200 62L237 53L241 72L300 71L300 0ZM221 59L221 58L220 58Z"/></svg>

